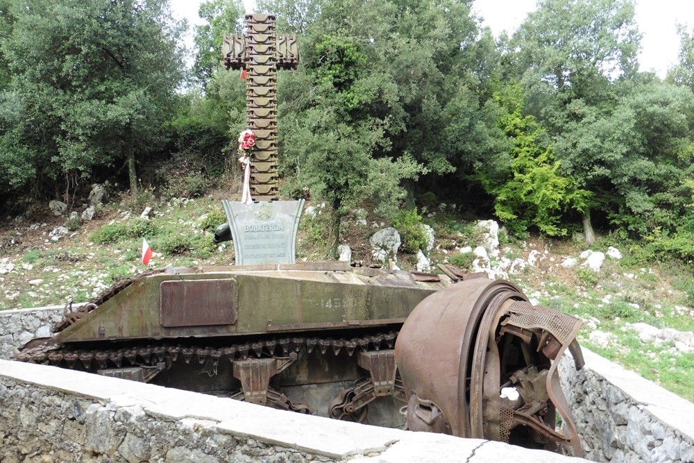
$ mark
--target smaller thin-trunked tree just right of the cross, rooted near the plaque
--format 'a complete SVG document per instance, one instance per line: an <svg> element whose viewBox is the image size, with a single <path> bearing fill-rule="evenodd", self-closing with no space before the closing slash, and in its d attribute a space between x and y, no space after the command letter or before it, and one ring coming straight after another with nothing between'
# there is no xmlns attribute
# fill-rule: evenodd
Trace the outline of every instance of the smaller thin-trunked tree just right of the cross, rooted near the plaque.
<svg viewBox="0 0 694 463"><path fill-rule="evenodd" d="M321 66L285 74L287 87L280 87L280 168L330 205L335 253L343 217L365 199L381 212L394 212L405 195L400 181L420 168L409 157L373 156L387 140L382 121L362 111L369 98L355 88L366 64L359 47L328 37L316 50L323 53Z"/></svg>

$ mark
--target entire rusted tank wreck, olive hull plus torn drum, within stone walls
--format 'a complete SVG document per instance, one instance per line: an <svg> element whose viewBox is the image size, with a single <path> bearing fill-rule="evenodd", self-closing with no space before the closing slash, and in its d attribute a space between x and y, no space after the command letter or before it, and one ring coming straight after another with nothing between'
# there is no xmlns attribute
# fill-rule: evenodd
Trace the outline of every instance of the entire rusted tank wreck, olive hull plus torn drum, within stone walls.
<svg viewBox="0 0 694 463"><path fill-rule="evenodd" d="M555 407L571 420L552 360L569 345L579 353L579 321L535 308L510 283L442 269L158 269L76 310L66 305L55 335L29 342L15 360L378 426L555 450L568 444L578 453L573 428L567 436L554 428ZM514 322L519 310L542 317ZM560 335L557 326L570 327ZM521 398L500 401L503 387ZM530 432L500 434L500 413L503 430Z"/></svg>

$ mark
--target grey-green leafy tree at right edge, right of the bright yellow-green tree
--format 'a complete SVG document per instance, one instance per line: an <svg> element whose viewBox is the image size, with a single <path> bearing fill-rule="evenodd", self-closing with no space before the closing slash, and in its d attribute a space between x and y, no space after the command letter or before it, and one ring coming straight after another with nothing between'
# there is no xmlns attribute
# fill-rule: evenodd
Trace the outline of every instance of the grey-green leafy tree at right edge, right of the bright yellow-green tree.
<svg viewBox="0 0 694 463"><path fill-rule="evenodd" d="M595 194L613 224L637 237L675 230L691 178L694 99L657 79L625 83L613 110L575 101L576 119L557 137L568 169Z"/></svg>

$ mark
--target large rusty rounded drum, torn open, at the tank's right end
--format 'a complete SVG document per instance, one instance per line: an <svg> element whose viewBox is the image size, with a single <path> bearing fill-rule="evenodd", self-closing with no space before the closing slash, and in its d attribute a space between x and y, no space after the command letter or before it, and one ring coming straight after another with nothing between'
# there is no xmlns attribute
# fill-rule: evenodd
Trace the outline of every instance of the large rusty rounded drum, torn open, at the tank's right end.
<svg viewBox="0 0 694 463"><path fill-rule="evenodd" d="M396 341L408 428L555 451L564 445L582 457L557 373L567 348L583 366L581 325L532 305L503 280L465 280L428 296ZM566 434L555 430L555 410Z"/></svg>

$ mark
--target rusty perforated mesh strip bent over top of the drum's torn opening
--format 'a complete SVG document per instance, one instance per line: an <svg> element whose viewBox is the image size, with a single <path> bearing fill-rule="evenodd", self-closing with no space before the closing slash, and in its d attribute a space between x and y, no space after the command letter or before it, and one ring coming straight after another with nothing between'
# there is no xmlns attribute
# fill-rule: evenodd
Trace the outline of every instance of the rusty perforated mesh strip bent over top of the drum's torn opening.
<svg viewBox="0 0 694 463"><path fill-rule="evenodd" d="M557 337L561 344L570 344L581 321L557 310L532 305L526 301L516 301L509 308L509 325L519 328L545 328Z"/></svg>

